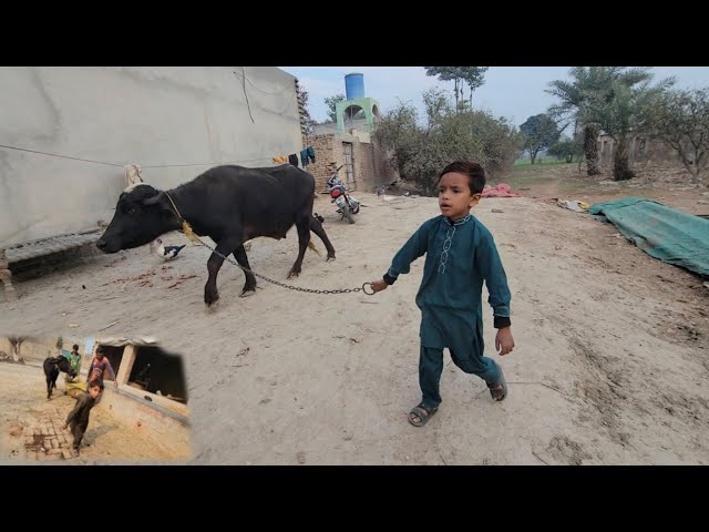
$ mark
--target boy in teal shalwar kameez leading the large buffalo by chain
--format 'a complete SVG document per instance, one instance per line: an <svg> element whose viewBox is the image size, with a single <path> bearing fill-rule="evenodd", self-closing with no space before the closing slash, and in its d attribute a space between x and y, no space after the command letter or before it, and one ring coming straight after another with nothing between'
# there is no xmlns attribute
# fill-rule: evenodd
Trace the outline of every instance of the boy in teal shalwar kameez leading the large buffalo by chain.
<svg viewBox="0 0 709 532"><path fill-rule="evenodd" d="M443 348L448 347L455 366L487 383L493 399L502 401L507 395L502 368L483 356L483 280L497 329L495 348L500 355L514 348L505 270L492 234L470 214L484 186L485 172L477 163L455 161L443 168L439 174L441 215L424 222L394 255L383 278L372 282L374 291L383 290L425 254L415 299L421 309L419 385L423 398L409 415L417 427L423 427L441 403Z"/></svg>

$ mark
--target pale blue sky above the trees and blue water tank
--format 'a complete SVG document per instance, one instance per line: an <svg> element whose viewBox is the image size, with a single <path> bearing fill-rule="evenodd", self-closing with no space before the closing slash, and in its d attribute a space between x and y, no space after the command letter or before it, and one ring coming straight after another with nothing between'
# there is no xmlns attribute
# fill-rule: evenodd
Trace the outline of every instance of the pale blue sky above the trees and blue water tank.
<svg viewBox="0 0 709 532"><path fill-rule="evenodd" d="M377 100L382 112L394 108L398 101L411 102L423 110L421 94L432 88L450 90L453 82L441 82L425 75L423 66L279 66L298 78L308 91L310 116L318 122L327 117L323 100L345 94L345 75L363 74L364 93ZM540 114L554 102L545 93L549 81L567 80L571 66L490 66L485 84L473 92L473 106L485 109L496 117L503 116L520 125L527 117ZM670 75L677 78L677 88L709 86L709 66L654 66L655 80Z"/></svg>

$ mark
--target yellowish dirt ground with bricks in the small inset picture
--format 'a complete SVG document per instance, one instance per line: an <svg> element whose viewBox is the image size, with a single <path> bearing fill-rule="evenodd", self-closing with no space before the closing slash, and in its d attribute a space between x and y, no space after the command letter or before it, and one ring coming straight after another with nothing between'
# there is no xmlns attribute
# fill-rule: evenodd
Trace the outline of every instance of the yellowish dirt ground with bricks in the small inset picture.
<svg viewBox="0 0 709 532"><path fill-rule="evenodd" d="M71 430L62 430L75 399L63 395L63 375L47 400L41 366L0 364L0 463L119 464L178 463L148 438L122 426L96 405L80 456L71 456Z"/></svg>

